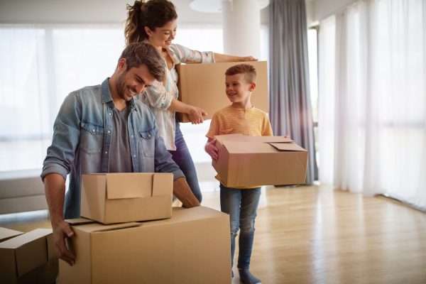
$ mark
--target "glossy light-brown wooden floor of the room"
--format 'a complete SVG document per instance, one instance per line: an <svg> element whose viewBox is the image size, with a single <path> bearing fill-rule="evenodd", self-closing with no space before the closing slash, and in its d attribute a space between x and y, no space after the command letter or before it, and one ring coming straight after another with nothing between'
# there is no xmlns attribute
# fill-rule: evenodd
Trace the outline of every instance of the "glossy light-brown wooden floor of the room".
<svg viewBox="0 0 426 284"><path fill-rule="evenodd" d="M268 187L266 200L251 259L262 283L426 283L426 213L315 185ZM219 208L219 193L205 192L203 205ZM0 226L30 231L50 223L41 213Z"/></svg>

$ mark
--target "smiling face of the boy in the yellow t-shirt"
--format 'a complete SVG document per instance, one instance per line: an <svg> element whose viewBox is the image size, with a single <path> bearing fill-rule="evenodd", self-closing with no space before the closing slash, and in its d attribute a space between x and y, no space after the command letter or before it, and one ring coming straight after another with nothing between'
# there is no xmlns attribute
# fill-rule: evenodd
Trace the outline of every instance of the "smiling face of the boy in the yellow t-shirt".
<svg viewBox="0 0 426 284"><path fill-rule="evenodd" d="M232 104L241 104L245 107L250 103L250 95L253 92L255 83L247 82L244 74L228 75L225 79L226 96Z"/></svg>

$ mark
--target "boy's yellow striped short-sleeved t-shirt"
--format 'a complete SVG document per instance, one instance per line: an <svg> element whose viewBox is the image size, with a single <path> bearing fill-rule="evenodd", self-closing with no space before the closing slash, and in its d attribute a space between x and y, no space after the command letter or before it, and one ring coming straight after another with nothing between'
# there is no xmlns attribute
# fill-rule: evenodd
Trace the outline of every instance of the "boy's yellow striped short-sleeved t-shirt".
<svg viewBox="0 0 426 284"><path fill-rule="evenodd" d="M214 138L216 135L236 133L248 136L273 136L271 122L265 111L256 109L255 107L251 107L251 109L238 109L232 106L220 109L213 114L206 136L207 138ZM216 175L216 178L219 182L221 181L219 175ZM238 188L248 189L256 187Z"/></svg>

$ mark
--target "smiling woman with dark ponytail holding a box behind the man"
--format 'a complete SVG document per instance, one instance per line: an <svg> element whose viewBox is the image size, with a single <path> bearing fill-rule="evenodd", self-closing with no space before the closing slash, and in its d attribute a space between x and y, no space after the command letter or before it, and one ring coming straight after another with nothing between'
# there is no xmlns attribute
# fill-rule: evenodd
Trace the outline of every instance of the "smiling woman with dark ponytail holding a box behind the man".
<svg viewBox="0 0 426 284"><path fill-rule="evenodd" d="M178 14L175 5L168 0L135 1L127 5L126 44L145 41L155 46L164 58L165 80L155 82L141 97L142 101L153 111L158 124L160 136L163 137L172 158L185 174L187 182L195 197L201 202L202 195L198 184L197 172L188 151L185 139L180 131L175 112L187 114L192 124L203 122L205 111L178 101L178 73L175 65L180 63L212 63L253 61L255 58L224 55L212 52L190 50L182 45L173 44Z"/></svg>

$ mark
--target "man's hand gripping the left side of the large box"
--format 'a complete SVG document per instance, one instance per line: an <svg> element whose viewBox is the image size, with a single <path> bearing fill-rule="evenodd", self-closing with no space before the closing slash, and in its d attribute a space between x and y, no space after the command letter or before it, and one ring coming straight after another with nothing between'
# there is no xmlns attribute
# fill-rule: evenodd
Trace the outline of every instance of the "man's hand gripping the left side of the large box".
<svg viewBox="0 0 426 284"><path fill-rule="evenodd" d="M75 263L75 255L68 251L65 245L65 238L72 238L74 231L72 231L70 224L63 219L58 222L52 222L53 228L53 241L55 242L55 250L58 258L66 261L70 266Z"/></svg>

